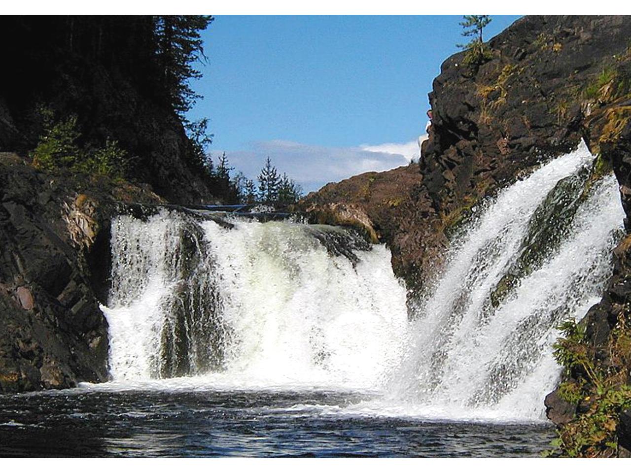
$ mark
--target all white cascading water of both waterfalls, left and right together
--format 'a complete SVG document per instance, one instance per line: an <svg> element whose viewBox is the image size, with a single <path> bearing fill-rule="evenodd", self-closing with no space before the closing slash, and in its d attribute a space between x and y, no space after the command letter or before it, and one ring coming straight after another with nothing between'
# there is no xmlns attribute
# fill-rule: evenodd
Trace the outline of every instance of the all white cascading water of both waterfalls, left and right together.
<svg viewBox="0 0 631 473"><path fill-rule="evenodd" d="M119 216L112 377L370 391L348 414L543 419L555 327L599 300L622 228L615 177L590 184L592 161L582 144L478 209L409 315L389 250L347 230Z"/></svg>

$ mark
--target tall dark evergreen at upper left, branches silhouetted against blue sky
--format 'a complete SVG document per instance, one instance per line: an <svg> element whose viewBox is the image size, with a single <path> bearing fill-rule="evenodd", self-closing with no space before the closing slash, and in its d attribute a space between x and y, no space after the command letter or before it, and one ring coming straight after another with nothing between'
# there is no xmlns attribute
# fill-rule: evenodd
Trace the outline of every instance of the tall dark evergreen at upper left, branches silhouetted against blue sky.
<svg viewBox="0 0 631 473"><path fill-rule="evenodd" d="M201 77L195 62L206 59L200 32L213 20L211 15L165 15L154 20L160 81L184 123L184 114L200 98L189 85L189 79Z"/></svg>

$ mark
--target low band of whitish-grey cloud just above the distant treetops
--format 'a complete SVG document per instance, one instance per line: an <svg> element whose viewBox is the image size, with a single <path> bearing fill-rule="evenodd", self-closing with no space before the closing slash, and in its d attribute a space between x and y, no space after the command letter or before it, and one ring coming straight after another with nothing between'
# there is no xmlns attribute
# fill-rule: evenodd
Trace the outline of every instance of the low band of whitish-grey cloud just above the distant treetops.
<svg viewBox="0 0 631 473"><path fill-rule="evenodd" d="M213 156L222 151L213 151ZM230 166L255 179L267 156L272 164L302 185L306 192L369 171L386 171L418 160L418 143L384 143L327 147L293 141L254 143L251 149L226 151Z"/></svg>

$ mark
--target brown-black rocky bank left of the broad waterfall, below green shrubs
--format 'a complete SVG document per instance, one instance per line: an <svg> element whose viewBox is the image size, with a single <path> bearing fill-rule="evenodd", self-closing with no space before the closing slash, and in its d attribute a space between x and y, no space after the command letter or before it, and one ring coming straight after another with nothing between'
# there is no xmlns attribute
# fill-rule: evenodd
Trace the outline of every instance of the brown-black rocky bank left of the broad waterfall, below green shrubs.
<svg viewBox="0 0 631 473"><path fill-rule="evenodd" d="M87 193L87 194L86 194ZM0 153L0 392L107 380L108 226L131 185L50 175Z"/></svg>

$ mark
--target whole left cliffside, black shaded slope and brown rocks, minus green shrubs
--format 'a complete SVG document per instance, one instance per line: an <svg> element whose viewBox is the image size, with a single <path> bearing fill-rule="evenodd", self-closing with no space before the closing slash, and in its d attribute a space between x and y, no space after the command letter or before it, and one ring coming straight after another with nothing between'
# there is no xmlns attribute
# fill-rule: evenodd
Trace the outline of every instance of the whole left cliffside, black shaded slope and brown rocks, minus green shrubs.
<svg viewBox="0 0 631 473"><path fill-rule="evenodd" d="M110 219L214 200L156 41L151 16L0 18L0 393L107 380ZM81 149L117 141L127 180L33 168L42 108L76 117Z"/></svg>

